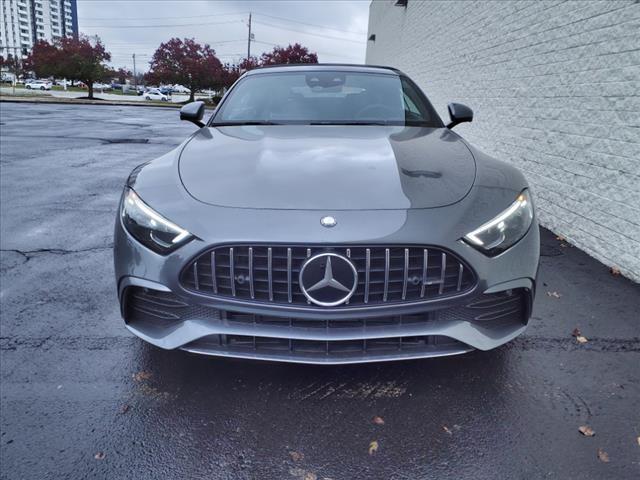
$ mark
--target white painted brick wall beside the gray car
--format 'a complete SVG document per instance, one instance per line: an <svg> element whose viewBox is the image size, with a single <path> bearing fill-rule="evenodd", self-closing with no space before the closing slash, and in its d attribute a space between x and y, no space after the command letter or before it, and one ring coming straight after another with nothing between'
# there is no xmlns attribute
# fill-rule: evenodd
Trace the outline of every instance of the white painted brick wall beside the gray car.
<svg viewBox="0 0 640 480"><path fill-rule="evenodd" d="M640 3L374 0L367 63L527 176L542 225L640 281Z"/></svg>

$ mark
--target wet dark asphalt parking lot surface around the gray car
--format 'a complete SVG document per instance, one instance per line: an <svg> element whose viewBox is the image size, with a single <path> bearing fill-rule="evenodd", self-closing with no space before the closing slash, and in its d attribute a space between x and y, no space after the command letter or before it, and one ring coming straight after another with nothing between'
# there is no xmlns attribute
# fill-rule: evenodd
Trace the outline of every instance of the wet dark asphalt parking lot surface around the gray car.
<svg viewBox="0 0 640 480"><path fill-rule="evenodd" d="M193 128L173 109L0 103L1 478L638 478L640 286L546 230L530 328L491 352L305 366L129 334L121 189Z"/></svg>

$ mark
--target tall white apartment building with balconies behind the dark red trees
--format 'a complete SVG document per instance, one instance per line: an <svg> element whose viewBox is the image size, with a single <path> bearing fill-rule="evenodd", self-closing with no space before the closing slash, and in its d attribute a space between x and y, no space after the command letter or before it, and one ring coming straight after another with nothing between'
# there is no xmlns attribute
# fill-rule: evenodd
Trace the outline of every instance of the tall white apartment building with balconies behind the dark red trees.
<svg viewBox="0 0 640 480"><path fill-rule="evenodd" d="M78 34L76 0L0 0L0 55L26 56L38 40Z"/></svg>

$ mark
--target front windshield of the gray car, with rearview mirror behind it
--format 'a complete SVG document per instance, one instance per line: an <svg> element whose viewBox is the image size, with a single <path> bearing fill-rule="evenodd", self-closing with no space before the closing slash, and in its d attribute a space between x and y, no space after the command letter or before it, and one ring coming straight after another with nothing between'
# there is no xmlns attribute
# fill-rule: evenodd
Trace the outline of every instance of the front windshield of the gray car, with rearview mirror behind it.
<svg viewBox="0 0 640 480"><path fill-rule="evenodd" d="M246 76L229 92L211 125L247 124L442 126L407 78L332 71Z"/></svg>

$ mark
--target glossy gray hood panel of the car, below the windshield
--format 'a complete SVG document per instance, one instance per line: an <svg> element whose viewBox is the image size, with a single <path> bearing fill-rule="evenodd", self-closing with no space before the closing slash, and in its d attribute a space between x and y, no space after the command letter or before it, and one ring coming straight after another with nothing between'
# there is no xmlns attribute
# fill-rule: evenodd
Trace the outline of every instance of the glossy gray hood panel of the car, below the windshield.
<svg viewBox="0 0 640 480"><path fill-rule="evenodd" d="M390 210L456 203L473 155L446 128L233 126L200 129L180 156L196 200L223 207Z"/></svg>

